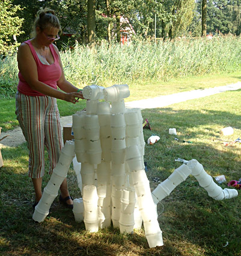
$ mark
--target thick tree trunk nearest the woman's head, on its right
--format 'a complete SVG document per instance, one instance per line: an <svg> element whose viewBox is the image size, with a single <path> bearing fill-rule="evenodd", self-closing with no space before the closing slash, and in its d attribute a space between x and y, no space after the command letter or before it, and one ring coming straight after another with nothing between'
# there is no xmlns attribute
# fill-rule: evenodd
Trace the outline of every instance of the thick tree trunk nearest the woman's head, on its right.
<svg viewBox="0 0 241 256"><path fill-rule="evenodd" d="M96 44L96 1L88 0L87 32L88 43L92 48Z"/></svg>

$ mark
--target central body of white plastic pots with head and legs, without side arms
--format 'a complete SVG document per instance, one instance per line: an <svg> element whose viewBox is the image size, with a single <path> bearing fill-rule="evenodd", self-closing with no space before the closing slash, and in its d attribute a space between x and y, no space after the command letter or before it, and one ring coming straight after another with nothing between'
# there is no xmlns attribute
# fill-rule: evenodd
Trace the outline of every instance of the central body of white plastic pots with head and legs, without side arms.
<svg viewBox="0 0 241 256"><path fill-rule="evenodd" d="M143 219L149 246L162 246L144 170L141 110L126 109L124 104L129 87L88 86L83 95L87 109L73 115L73 133L76 158L81 162L85 228L95 232L97 223L105 228L112 220L121 233L132 233L141 228ZM105 101L100 102L102 98Z"/></svg>

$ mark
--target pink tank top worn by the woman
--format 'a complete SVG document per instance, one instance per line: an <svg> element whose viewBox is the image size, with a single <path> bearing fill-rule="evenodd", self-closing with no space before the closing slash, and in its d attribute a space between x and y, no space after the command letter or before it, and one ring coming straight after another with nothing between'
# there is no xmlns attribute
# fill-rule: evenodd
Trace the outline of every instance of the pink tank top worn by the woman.
<svg viewBox="0 0 241 256"><path fill-rule="evenodd" d="M38 70L38 81L47 84L54 89L57 89L57 81L61 76L61 67L59 66L59 58L58 54L55 52L53 45L49 45L49 49L53 55L54 63L50 65L46 65L41 63L38 58L37 53L35 52L34 46L32 46L31 41L28 40L25 43L29 45L31 49L32 55L34 56L34 60L37 64ZM23 93L28 96L44 96L42 93L37 92L36 90L32 90L31 87L26 83L25 79L23 78L22 74L19 72L19 84L17 86L17 90L20 93Z"/></svg>

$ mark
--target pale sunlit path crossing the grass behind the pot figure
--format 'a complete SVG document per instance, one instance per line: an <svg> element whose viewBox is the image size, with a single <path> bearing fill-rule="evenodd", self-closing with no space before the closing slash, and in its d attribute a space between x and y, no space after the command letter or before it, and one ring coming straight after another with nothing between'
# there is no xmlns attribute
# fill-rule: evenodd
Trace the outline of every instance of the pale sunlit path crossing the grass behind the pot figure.
<svg viewBox="0 0 241 256"><path fill-rule="evenodd" d="M219 86L205 90L192 90L190 92L181 92L175 93L172 95L159 96L152 99L142 99L140 101L131 101L126 102L126 107L133 108L161 108L166 107L168 105L188 101L189 99L197 99L210 95L215 95L217 93L227 92L231 90L239 90L241 89L241 82L236 84L230 84L228 86ZM64 116L61 117L61 126L65 126L67 124L72 123L72 116ZM4 140L0 142L0 148L4 148L6 146L18 146L25 142L25 138L23 137L22 130L20 127L8 131L7 133L1 133L1 138L7 136Z"/></svg>

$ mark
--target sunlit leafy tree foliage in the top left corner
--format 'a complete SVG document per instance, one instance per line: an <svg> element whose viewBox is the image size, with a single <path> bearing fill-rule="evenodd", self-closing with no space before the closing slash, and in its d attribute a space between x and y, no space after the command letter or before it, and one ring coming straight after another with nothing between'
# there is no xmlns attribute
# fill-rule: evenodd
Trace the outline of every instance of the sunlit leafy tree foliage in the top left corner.
<svg viewBox="0 0 241 256"><path fill-rule="evenodd" d="M0 56L13 52L20 45L13 39L23 33L23 19L16 16L17 10L21 10L20 6L14 6L11 0L0 1Z"/></svg>

